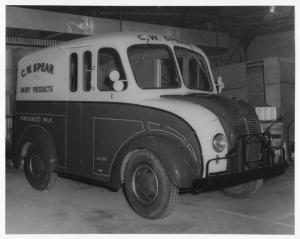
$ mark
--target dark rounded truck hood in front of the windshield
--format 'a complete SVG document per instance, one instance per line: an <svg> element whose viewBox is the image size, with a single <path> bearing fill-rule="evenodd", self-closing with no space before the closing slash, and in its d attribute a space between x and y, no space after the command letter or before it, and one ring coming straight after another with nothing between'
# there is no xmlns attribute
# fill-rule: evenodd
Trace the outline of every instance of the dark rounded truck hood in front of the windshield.
<svg viewBox="0 0 300 239"><path fill-rule="evenodd" d="M234 139L239 135L260 132L260 125L254 108L243 100L198 93L162 95L161 97L198 104L214 113L221 122L230 144L233 144Z"/></svg>

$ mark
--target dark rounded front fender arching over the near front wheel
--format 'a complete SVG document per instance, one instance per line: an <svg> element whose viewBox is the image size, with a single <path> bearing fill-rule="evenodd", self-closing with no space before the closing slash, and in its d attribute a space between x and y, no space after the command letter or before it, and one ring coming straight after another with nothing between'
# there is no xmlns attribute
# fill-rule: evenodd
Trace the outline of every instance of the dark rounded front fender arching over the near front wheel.
<svg viewBox="0 0 300 239"><path fill-rule="evenodd" d="M158 156L170 181L179 188L190 188L196 179L196 169L184 146L178 141L163 135L144 135L131 140L119 152L113 165L111 188L118 190L122 185L122 175L128 162L128 153L147 148Z"/></svg>

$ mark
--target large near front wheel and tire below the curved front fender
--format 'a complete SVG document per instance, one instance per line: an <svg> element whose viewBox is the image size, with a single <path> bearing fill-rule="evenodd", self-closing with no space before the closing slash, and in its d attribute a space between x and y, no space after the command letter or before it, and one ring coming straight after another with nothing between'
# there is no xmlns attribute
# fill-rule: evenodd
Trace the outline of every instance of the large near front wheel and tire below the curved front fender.
<svg viewBox="0 0 300 239"><path fill-rule="evenodd" d="M124 181L127 199L137 214L159 219L171 213L178 189L170 182L153 152L148 149L136 150L126 166Z"/></svg>

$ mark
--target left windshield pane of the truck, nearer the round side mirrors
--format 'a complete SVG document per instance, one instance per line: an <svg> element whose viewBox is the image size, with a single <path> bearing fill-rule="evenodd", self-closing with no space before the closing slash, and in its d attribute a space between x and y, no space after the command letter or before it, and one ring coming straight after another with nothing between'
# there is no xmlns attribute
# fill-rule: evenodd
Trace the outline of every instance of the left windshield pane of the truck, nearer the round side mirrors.
<svg viewBox="0 0 300 239"><path fill-rule="evenodd" d="M129 61L142 89L179 88L171 50L165 45L140 44L128 48Z"/></svg>

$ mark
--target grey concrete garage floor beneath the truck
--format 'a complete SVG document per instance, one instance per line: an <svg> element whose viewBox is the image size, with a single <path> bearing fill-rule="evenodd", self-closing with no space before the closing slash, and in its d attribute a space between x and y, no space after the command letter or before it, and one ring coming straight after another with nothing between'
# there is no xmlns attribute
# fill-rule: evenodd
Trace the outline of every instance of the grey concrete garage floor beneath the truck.
<svg viewBox="0 0 300 239"><path fill-rule="evenodd" d="M173 213L161 220L136 215L122 190L58 178L36 191L22 171L7 169L6 233L294 233L294 167L265 181L252 198L220 191L181 194Z"/></svg>

